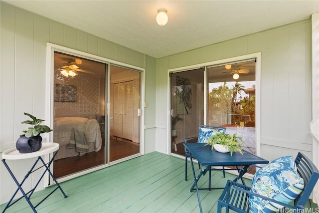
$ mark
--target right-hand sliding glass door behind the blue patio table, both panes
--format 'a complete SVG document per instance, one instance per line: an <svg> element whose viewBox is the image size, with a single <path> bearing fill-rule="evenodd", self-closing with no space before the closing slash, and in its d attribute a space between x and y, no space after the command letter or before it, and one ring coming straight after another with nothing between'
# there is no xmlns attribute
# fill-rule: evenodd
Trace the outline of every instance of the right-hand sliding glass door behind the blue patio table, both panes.
<svg viewBox="0 0 319 213"><path fill-rule="evenodd" d="M255 154L255 85L255 58L171 72L171 152L184 155L184 138L197 136L202 124L237 133Z"/></svg>

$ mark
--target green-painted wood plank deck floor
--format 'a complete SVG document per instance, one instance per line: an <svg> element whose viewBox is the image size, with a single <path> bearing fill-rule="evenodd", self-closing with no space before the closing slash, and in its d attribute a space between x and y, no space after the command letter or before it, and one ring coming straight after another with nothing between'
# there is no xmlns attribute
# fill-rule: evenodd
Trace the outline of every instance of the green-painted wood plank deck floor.
<svg viewBox="0 0 319 213"><path fill-rule="evenodd" d="M197 165L195 168L198 170ZM226 173L223 178L222 172L212 172L212 187L225 186L227 179L234 176ZM189 163L185 182L183 159L153 152L62 182L60 186L68 197L64 199L60 190L56 190L36 210L38 213L199 213L196 191L189 192L192 183ZM247 185L250 183L246 181ZM207 188L207 175L199 180L198 186ZM54 188L34 193L31 202L37 204ZM203 212L216 213L222 190L199 192ZM0 210L4 207L5 204L1 205ZM6 212L32 213L32 210L23 198Z"/></svg>

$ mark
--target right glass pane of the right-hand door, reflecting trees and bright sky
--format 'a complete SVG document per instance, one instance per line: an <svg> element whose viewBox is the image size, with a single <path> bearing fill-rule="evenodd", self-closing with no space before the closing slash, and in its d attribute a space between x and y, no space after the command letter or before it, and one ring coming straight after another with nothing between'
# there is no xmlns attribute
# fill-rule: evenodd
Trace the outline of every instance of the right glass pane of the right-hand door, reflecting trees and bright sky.
<svg viewBox="0 0 319 213"><path fill-rule="evenodd" d="M255 59L207 68L207 125L237 133L255 154Z"/></svg>

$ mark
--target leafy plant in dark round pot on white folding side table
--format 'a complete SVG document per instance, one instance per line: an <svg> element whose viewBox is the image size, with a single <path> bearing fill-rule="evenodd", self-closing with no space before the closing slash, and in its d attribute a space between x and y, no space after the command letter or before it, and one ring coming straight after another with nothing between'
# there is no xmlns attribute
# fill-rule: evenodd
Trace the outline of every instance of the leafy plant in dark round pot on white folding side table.
<svg viewBox="0 0 319 213"><path fill-rule="evenodd" d="M24 115L29 116L32 120L22 121L21 124L30 124L28 130L23 130L23 135L20 135L16 141L15 147L19 153L30 153L41 149L42 137L41 133L51 132L50 127L41 125L42 119L37 119L33 115L24 112Z"/></svg>

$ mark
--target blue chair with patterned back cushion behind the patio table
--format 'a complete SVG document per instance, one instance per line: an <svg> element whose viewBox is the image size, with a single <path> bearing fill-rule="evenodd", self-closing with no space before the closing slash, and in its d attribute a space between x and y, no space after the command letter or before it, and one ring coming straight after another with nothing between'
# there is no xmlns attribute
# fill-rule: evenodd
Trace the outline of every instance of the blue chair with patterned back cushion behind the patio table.
<svg viewBox="0 0 319 213"><path fill-rule="evenodd" d="M214 126L207 126L207 125L200 125L199 126L199 132L198 136L195 137L189 137L185 138L184 142L189 143L189 142L197 142L197 143L206 143L207 139L214 134L213 130L217 132L221 132L223 134L226 133L226 128L225 127L214 127ZM186 148L185 150L185 181L187 181L187 158L190 157L189 152ZM200 165L198 164L198 167L200 169ZM224 178L225 178L225 170L223 167L223 172L224 172ZM210 170L209 170L209 177L210 177Z"/></svg>

